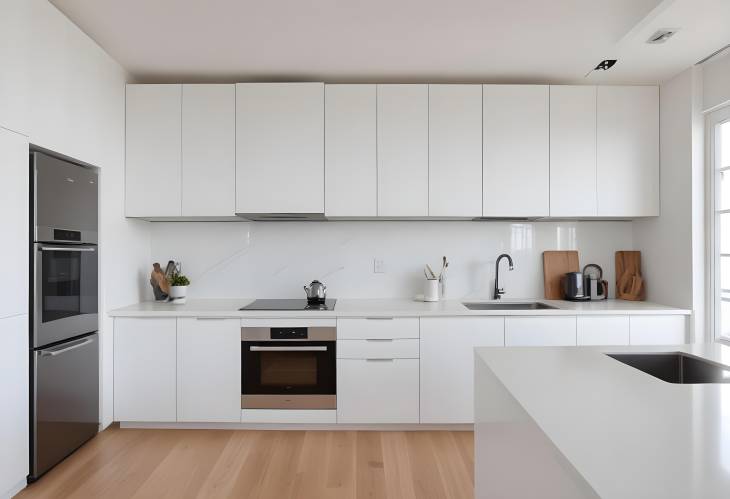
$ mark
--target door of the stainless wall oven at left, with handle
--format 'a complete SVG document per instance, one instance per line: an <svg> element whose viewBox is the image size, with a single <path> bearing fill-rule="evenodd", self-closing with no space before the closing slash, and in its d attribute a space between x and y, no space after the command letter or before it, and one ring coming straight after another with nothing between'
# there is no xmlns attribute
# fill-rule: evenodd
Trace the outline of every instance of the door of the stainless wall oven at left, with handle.
<svg viewBox="0 0 730 499"><path fill-rule="evenodd" d="M33 348L99 329L95 245L34 245Z"/></svg>

